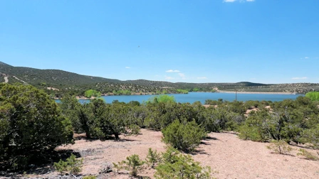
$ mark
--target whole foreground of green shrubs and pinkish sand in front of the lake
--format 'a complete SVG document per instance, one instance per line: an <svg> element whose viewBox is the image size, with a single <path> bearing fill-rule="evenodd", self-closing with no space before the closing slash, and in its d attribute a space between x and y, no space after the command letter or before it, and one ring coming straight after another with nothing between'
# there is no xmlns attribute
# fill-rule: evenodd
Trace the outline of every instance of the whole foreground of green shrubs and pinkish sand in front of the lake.
<svg viewBox="0 0 319 179"><path fill-rule="evenodd" d="M1 175L318 177L319 108L308 97L204 107L165 95L143 104L72 96L56 104L29 85L2 84L0 92Z"/></svg>

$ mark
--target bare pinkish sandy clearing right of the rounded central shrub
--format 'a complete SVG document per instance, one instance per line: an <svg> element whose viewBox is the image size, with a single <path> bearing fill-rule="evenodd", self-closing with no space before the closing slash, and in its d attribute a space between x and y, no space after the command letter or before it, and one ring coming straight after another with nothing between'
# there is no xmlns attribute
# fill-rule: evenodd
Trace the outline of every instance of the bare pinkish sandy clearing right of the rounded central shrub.
<svg viewBox="0 0 319 179"><path fill-rule="evenodd" d="M268 143L242 141L235 134L209 136L216 140L204 141L194 159L217 170L217 178L319 178L319 162L305 160L297 151L283 156L271 153Z"/></svg>

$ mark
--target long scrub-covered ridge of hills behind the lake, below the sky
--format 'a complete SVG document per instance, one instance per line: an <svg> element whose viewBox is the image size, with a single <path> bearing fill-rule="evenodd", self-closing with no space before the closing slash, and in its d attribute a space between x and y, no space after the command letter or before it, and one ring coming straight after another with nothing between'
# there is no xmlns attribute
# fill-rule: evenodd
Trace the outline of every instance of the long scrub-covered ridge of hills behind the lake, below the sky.
<svg viewBox="0 0 319 179"><path fill-rule="evenodd" d="M79 75L63 70L39 70L31 67L14 67L0 62L0 82L22 82L57 93L70 92L83 94L85 90L97 89L104 94L112 94L117 91L130 91L132 94L158 94L175 93L177 89L187 91L211 92L214 89L225 91L246 92L291 92L305 93L319 90L319 84L293 83L293 84L261 84L253 82L236 83L188 83L188 82L164 82L150 80L115 80L103 77ZM54 90L56 89L56 90ZM57 90L58 89L58 90ZM54 91L54 92L53 92Z"/></svg>

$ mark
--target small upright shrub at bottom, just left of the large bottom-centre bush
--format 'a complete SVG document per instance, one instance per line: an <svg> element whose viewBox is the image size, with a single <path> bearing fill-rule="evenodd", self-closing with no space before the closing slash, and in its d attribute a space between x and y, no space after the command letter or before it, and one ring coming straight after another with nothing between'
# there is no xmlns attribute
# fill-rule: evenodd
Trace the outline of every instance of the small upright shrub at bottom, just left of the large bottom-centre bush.
<svg viewBox="0 0 319 179"><path fill-rule="evenodd" d="M137 173L142 170L142 165L145 163L140 160L138 155L128 156L126 161L123 162L125 164L125 169L130 170L130 175L137 176Z"/></svg>

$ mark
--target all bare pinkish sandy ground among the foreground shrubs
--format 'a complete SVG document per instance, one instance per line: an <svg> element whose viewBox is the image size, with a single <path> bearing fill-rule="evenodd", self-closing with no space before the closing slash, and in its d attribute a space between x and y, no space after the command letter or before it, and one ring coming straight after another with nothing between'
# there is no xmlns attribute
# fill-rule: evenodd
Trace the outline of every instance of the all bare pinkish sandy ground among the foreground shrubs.
<svg viewBox="0 0 319 179"><path fill-rule="evenodd" d="M197 151L192 154L202 166L210 166L216 171L216 178L319 178L319 161L308 161L297 156L298 147L291 156L271 153L268 143L243 141L232 133L211 133L209 139L202 141ZM120 136L120 141L86 141L80 139L74 145L61 146L61 149L73 149L81 154L83 175L98 175L105 163L124 160L127 156L138 154L145 159L148 148L165 151L160 131L142 129L138 136ZM316 154L316 151L307 149ZM144 170L140 175L154 175L155 170ZM56 172L40 175L40 178L56 176ZM31 176L32 177L32 176ZM100 178L129 178L129 175L109 173Z"/></svg>

